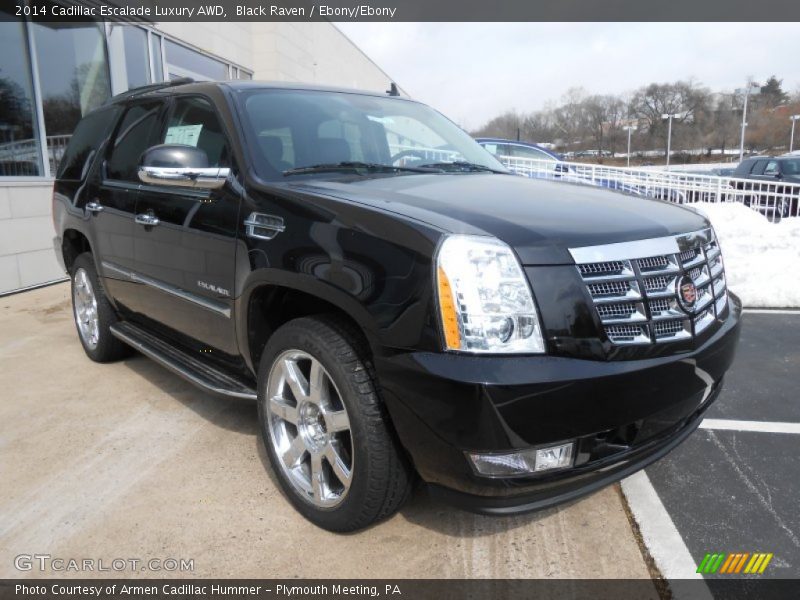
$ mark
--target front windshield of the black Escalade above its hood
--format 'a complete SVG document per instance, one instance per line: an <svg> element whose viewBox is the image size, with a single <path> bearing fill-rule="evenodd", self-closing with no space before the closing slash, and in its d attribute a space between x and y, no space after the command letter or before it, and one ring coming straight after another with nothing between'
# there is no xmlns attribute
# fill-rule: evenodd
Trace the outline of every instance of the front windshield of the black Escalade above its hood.
<svg viewBox="0 0 800 600"><path fill-rule="evenodd" d="M256 170L264 179L342 163L343 168L405 174L507 172L452 121L409 100L262 89L243 93L242 105Z"/></svg>

